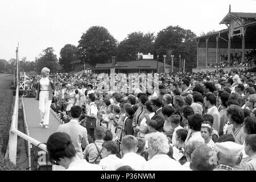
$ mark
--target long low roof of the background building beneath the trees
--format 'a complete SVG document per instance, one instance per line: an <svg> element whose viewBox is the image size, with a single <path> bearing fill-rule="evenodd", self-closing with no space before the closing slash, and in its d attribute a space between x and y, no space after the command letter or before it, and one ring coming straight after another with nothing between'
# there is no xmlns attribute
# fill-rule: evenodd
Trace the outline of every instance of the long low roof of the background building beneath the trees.
<svg viewBox="0 0 256 182"><path fill-rule="evenodd" d="M115 68L118 69L157 69L163 68L164 64L160 61L156 60L136 60L136 61L117 61L115 64ZM166 68L170 67L171 65L166 64ZM112 68L112 63L105 63L105 64L96 64L96 69L109 69Z"/></svg>

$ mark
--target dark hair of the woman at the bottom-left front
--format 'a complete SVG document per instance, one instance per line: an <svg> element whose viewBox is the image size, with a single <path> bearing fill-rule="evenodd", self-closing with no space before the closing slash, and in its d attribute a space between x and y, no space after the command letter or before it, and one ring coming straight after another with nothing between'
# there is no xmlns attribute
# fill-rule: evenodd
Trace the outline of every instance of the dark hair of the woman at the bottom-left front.
<svg viewBox="0 0 256 182"><path fill-rule="evenodd" d="M71 137L67 133L53 133L46 143L49 159L52 162L60 158L72 158L76 155L75 147L72 144Z"/></svg>

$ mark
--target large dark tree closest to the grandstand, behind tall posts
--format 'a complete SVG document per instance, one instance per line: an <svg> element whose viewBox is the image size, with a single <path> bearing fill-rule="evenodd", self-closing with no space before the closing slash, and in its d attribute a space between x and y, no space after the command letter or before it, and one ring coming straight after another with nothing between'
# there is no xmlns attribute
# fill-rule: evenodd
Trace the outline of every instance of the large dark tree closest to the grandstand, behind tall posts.
<svg viewBox="0 0 256 182"><path fill-rule="evenodd" d="M191 72L196 64L197 46L195 40L196 34L191 30L185 30L179 26L169 26L161 30L156 36L155 49L159 57L167 55L166 63L171 64L171 55L174 57L174 65L179 67L179 55L181 60L185 59L186 71Z"/></svg>

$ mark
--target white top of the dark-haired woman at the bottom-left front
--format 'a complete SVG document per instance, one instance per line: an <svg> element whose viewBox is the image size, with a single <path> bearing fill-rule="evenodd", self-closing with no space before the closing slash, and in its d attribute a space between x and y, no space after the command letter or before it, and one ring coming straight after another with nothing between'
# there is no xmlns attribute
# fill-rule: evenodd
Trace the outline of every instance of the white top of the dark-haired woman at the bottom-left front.
<svg viewBox="0 0 256 182"><path fill-rule="evenodd" d="M66 171L102 171L102 169L97 164L90 164L85 159L81 159L70 163Z"/></svg>

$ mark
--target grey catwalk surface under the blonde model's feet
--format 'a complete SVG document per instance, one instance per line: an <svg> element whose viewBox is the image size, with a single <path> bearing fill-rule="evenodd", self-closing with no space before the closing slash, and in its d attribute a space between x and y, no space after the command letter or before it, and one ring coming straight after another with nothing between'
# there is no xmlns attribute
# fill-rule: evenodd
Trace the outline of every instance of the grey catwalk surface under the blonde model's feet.
<svg viewBox="0 0 256 182"><path fill-rule="evenodd" d="M25 113L27 118L27 125L30 137L39 142L46 143L49 136L57 131L60 123L50 112L49 115L49 129L38 127L40 123L40 111L38 108L38 101L35 98L23 97Z"/></svg>

